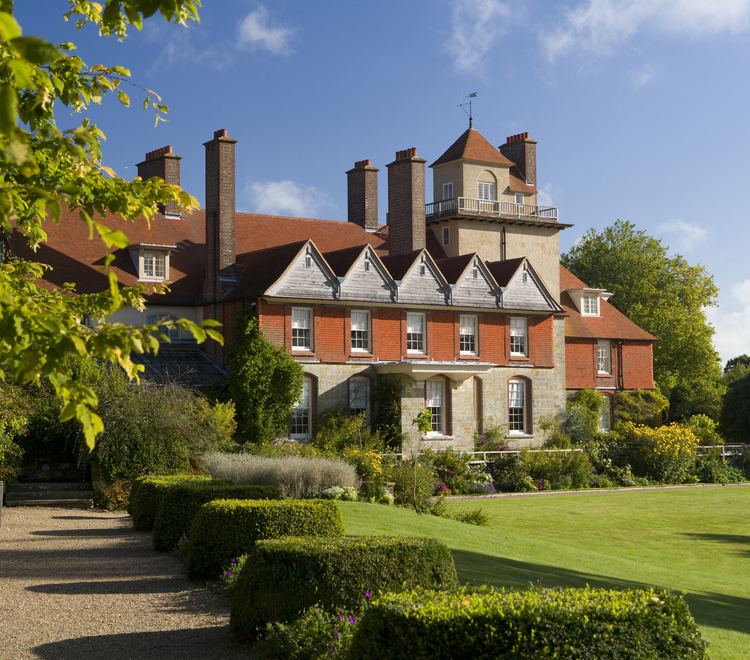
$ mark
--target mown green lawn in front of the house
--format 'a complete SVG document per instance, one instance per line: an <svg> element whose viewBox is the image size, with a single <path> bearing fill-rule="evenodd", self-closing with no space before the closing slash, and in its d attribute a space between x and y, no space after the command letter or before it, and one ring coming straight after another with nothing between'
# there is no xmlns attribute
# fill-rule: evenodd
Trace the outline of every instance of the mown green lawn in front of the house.
<svg viewBox="0 0 750 660"><path fill-rule="evenodd" d="M465 582L666 587L685 592L712 658L750 657L750 488L456 500L475 527L342 502L348 534L438 538Z"/></svg>

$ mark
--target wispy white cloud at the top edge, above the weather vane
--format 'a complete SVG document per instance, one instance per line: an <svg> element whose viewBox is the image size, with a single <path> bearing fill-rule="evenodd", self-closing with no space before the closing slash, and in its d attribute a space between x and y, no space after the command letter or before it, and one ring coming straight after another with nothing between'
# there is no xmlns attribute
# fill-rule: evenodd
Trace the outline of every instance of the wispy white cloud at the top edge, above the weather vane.
<svg viewBox="0 0 750 660"><path fill-rule="evenodd" d="M512 19L505 0L453 0L446 50L461 72L481 73L484 60Z"/></svg>

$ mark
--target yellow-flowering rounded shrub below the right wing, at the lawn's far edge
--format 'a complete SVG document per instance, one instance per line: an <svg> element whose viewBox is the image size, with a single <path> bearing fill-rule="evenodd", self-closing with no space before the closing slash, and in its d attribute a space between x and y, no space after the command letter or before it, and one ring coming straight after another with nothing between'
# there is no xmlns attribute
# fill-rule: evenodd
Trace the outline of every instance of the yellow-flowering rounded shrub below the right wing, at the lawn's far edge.
<svg viewBox="0 0 750 660"><path fill-rule="evenodd" d="M637 450L637 471L656 481L684 483L693 473L698 438L687 426L667 424L658 428L628 423L626 439Z"/></svg>

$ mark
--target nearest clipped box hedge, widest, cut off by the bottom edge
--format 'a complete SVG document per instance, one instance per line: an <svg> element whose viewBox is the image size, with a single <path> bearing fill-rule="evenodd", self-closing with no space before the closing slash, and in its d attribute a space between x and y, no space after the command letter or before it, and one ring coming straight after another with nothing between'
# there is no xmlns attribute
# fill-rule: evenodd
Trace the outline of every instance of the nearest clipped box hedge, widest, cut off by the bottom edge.
<svg viewBox="0 0 750 660"><path fill-rule="evenodd" d="M386 594L352 658L706 658L680 596L653 590L462 589Z"/></svg>

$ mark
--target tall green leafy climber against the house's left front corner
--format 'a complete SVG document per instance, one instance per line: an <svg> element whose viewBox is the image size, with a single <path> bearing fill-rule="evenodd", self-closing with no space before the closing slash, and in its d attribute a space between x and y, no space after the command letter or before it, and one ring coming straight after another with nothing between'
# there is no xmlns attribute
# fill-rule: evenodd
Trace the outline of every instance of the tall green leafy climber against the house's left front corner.
<svg viewBox="0 0 750 660"><path fill-rule="evenodd" d="M269 342L249 316L236 335L229 393L237 407L240 438L265 444L285 436L304 373L283 348Z"/></svg>

